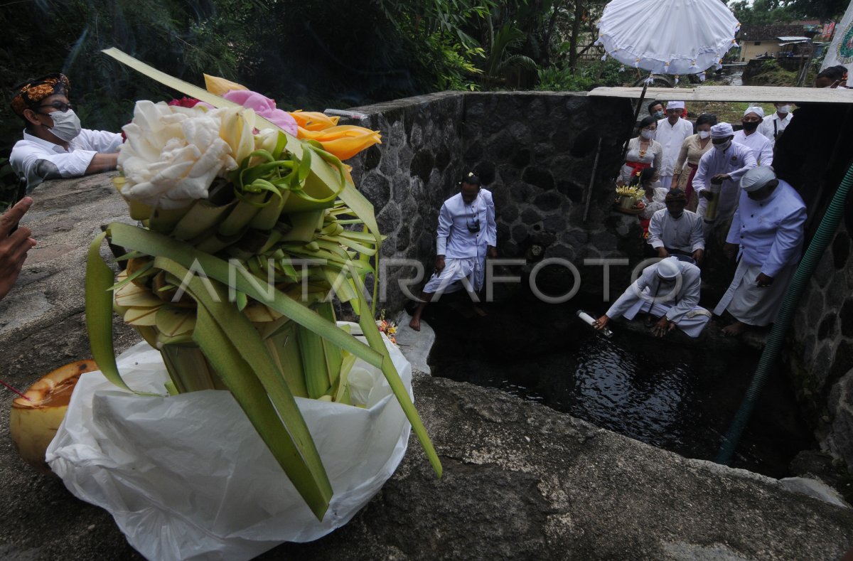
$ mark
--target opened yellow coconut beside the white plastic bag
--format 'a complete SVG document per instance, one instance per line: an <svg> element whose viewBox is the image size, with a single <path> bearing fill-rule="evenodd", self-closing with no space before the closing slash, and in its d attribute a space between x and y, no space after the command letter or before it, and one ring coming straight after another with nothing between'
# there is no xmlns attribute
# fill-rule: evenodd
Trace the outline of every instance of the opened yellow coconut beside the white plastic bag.
<svg viewBox="0 0 853 561"><path fill-rule="evenodd" d="M18 397L12 402L9 433L18 454L28 464L44 473L52 473L44 453L56 431L77 385L80 374L97 370L95 361L76 361L56 368L24 393L29 401Z"/></svg>

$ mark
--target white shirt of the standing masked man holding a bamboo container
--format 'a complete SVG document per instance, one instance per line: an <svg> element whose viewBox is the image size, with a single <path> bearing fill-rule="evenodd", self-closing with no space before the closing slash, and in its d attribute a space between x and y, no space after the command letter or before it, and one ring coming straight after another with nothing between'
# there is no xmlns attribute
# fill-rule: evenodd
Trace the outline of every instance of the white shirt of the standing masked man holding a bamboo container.
<svg viewBox="0 0 853 561"><path fill-rule="evenodd" d="M696 190L696 193L700 194L709 188L711 177L718 173L725 173L731 177L731 179L724 180L720 185L720 201L717 203L715 223L720 223L732 216L738 205L740 177L756 166L757 163L752 151L737 142L732 142L731 146L725 150L716 147L711 148L699 159L699 167L696 169L696 175L693 176L693 189ZM704 209L707 205L707 199L699 198L700 208ZM705 211L701 211L699 214L704 215Z"/></svg>

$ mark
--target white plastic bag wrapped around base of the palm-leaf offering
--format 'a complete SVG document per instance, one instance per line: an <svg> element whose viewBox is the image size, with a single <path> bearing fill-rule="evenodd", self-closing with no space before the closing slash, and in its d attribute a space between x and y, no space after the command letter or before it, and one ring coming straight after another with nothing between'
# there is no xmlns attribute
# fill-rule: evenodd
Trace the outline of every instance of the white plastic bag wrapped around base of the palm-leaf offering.
<svg viewBox="0 0 853 561"><path fill-rule="evenodd" d="M411 396L409 362L386 345ZM164 392L163 360L148 344L118 362L134 390ZM146 558L253 558L349 522L403 460L410 425L382 373L359 360L351 376L367 408L296 399L334 490L322 522L227 391L136 396L84 374L46 457Z"/></svg>

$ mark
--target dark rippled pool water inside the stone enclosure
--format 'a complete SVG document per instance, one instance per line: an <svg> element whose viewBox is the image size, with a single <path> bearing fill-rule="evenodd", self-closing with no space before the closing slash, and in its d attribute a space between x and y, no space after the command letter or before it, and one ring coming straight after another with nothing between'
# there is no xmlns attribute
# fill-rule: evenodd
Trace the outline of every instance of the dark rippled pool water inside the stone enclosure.
<svg viewBox="0 0 853 561"><path fill-rule="evenodd" d="M578 308L598 315L602 303L549 305L520 295L472 319L460 315L466 308L464 301L427 308L437 333L433 375L499 388L689 458L716 457L759 356L667 344L618 327L603 338L575 316ZM785 477L793 456L813 445L779 373L763 390L733 466Z"/></svg>

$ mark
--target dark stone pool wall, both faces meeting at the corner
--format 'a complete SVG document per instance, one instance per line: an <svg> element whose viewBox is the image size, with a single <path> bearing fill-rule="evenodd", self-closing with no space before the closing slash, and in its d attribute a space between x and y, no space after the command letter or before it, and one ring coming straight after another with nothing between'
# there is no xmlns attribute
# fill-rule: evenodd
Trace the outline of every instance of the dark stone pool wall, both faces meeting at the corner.
<svg viewBox="0 0 853 561"><path fill-rule="evenodd" d="M383 137L381 147L348 163L388 236L381 252L386 264L410 258L429 272L438 210L465 171L478 173L495 195L501 257L530 263L561 257L578 269L585 257L639 257L636 218L610 212L612 178L633 117L627 100L572 93L443 92L353 111L363 115L357 124L380 130ZM566 292L572 288L571 274L557 269L539 278ZM384 270L384 305L398 309L406 298L397 280L410 278L413 269ZM601 271L582 271L582 289L600 293ZM614 286L627 285L629 272L613 269Z"/></svg>

